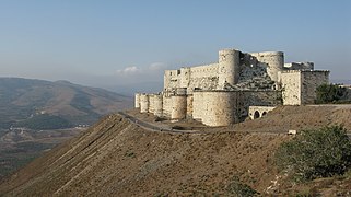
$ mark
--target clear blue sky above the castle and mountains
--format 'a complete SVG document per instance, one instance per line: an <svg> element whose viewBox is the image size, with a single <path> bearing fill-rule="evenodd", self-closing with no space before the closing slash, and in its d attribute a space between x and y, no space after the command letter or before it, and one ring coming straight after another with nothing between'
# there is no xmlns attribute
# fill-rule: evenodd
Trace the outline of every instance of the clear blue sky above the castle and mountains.
<svg viewBox="0 0 351 197"><path fill-rule="evenodd" d="M0 0L1 77L116 90L221 48L281 50L351 79L351 0Z"/></svg>

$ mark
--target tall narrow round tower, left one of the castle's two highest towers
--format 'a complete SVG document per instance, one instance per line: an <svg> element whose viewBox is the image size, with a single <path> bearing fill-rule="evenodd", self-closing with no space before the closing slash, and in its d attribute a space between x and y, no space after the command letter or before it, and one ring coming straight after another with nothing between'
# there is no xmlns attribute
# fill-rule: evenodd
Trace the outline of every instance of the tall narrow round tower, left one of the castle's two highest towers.
<svg viewBox="0 0 351 197"><path fill-rule="evenodd" d="M235 49L223 49L219 51L219 89L225 83L236 84L239 77L241 51Z"/></svg>

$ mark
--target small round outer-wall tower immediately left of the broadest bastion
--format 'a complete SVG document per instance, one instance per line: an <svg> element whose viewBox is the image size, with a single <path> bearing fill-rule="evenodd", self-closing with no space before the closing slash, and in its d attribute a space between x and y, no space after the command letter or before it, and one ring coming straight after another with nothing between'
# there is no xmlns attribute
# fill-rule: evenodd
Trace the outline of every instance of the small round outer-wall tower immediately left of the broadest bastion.
<svg viewBox="0 0 351 197"><path fill-rule="evenodd" d="M184 119L187 116L187 96L172 96L172 114L171 119Z"/></svg>

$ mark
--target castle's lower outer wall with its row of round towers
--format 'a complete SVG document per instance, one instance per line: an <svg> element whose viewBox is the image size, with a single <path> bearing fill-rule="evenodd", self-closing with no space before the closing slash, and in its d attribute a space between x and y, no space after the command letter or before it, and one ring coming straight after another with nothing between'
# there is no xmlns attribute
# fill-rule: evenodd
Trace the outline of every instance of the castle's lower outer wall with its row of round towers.
<svg viewBox="0 0 351 197"><path fill-rule="evenodd" d="M147 97L149 102L144 102ZM239 123L248 116L251 105L277 106L282 104L281 92L274 90L195 91L194 94L169 96L141 94L140 101L141 113L151 113L172 120L190 117L209 126ZM144 106L147 104L149 104L148 107Z"/></svg>

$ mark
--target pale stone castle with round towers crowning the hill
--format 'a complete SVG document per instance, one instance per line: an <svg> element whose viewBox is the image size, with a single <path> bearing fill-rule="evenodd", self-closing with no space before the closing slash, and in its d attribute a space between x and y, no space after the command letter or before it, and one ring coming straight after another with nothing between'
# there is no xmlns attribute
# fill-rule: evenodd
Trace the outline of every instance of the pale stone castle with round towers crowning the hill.
<svg viewBox="0 0 351 197"><path fill-rule="evenodd" d="M329 71L314 70L313 62L284 63L282 51L223 49L215 63L166 70L163 91L137 93L134 105L172 120L227 126L278 105L313 104L323 83L329 83Z"/></svg>

